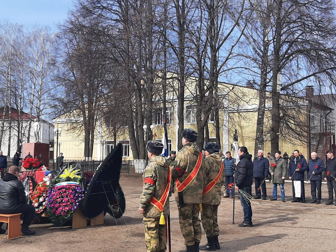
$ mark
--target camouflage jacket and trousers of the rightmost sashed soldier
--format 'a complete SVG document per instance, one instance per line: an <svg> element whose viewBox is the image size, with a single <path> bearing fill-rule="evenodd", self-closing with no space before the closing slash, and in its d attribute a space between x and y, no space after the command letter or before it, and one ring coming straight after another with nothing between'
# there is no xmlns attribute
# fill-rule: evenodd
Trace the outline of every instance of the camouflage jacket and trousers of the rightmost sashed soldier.
<svg viewBox="0 0 336 252"><path fill-rule="evenodd" d="M205 174L207 176L207 182L210 183L218 175L222 165L222 159L219 157L219 153L213 153L205 158L205 163ZM201 212L201 219L204 232L207 237L219 235L217 210L221 199L221 187L224 182L225 173L223 169L218 182L207 194L203 196L202 199L203 212Z"/></svg>

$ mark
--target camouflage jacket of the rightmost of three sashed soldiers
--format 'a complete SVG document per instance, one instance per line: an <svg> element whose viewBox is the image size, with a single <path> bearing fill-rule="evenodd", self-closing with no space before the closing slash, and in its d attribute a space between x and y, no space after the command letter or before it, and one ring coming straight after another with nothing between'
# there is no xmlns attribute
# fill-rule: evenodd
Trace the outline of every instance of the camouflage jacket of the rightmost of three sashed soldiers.
<svg viewBox="0 0 336 252"><path fill-rule="evenodd" d="M205 158L206 170L205 175L207 177L207 184L217 177L220 167L222 165L222 159L219 157L219 153L210 154ZM212 189L205 195L203 195L202 204L219 205L221 199L221 187L225 182L225 172L222 171L218 182L212 187Z"/></svg>

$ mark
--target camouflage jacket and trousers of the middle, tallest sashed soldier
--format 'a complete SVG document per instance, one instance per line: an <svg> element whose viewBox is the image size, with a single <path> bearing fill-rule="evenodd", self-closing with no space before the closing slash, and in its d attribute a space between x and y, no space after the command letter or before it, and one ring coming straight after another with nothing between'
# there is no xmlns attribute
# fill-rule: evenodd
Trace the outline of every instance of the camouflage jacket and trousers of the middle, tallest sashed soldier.
<svg viewBox="0 0 336 252"><path fill-rule="evenodd" d="M196 142L188 142L177 153L174 161L170 163L171 174L180 182L192 172L200 153ZM205 179L205 162L202 164L194 180L182 191L184 205L178 202L178 192L175 186L175 200L177 201L180 228L186 246L192 246L195 242L201 242L202 229L200 223L200 205Z"/></svg>

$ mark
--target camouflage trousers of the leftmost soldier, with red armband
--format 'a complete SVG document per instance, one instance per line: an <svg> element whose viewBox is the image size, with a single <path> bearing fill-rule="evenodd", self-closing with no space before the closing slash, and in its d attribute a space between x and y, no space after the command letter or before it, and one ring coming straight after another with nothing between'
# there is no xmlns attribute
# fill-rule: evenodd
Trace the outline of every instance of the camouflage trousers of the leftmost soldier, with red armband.
<svg viewBox="0 0 336 252"><path fill-rule="evenodd" d="M167 250L166 225L159 224L160 218L143 217L147 252Z"/></svg>

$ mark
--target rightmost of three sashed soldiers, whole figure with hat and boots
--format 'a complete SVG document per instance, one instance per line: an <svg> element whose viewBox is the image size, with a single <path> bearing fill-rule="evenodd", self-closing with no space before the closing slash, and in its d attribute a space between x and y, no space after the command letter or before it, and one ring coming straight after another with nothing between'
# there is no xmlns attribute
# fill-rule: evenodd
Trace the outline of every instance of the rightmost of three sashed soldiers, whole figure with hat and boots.
<svg viewBox="0 0 336 252"><path fill-rule="evenodd" d="M205 175L207 177L207 185L217 178L216 184L210 191L207 192L211 186L205 186L205 192L203 192L201 219L202 225L207 237L208 243L204 246L200 246L200 250L214 251L220 249L218 236L219 226L217 220L217 210L221 199L221 187L225 181L225 174L222 167L222 159L219 156L219 146L214 142L208 142L205 145L205 163L206 170ZM220 175L218 177L218 175Z"/></svg>

